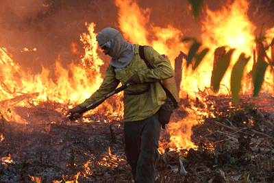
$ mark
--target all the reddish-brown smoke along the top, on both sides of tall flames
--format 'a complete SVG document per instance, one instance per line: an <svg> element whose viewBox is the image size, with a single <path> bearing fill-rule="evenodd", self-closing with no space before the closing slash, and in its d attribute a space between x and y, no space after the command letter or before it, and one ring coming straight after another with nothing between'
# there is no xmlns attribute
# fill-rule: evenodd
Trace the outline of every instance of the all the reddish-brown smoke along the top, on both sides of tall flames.
<svg viewBox="0 0 274 183"><path fill-rule="evenodd" d="M188 0L136 1L140 8L151 10L150 25L171 25L184 36L199 38L201 23L193 18ZM203 8L216 10L225 3L205 0ZM273 27L274 1L251 0L250 4L251 21L258 27L262 23ZM8 48L15 62L34 72L41 71L41 64L51 66L58 57L65 66L71 62L71 42L82 43L80 35L87 32L86 22L96 23L95 32L100 32L105 27L119 28L117 19L114 0L0 0L0 47ZM21 52L23 48L37 51L26 54Z"/></svg>

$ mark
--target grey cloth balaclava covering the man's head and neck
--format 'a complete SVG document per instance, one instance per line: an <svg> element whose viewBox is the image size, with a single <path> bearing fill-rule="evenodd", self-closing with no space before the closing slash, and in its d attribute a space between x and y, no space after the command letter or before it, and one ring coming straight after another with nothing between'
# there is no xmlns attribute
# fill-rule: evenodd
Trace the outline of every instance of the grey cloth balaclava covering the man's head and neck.
<svg viewBox="0 0 274 183"><path fill-rule="evenodd" d="M134 45L126 42L118 30L111 27L105 28L98 33L96 39L100 46L106 45L109 48L103 52L112 57L110 64L116 68L115 71L124 69L132 62Z"/></svg>

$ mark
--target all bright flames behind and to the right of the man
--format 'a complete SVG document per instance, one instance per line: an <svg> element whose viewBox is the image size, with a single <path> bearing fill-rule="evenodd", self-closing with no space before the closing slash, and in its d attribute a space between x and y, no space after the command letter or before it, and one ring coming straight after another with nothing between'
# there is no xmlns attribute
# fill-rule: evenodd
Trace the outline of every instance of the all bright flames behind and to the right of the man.
<svg viewBox="0 0 274 183"><path fill-rule="evenodd" d="M115 4L119 8L119 28L129 42L151 45L159 53L168 55L172 64L174 64L175 58L179 55L179 51L187 53L188 49L184 47L181 41L184 33L179 29L171 25L166 28L149 25L151 9L142 9L133 0L116 0ZM197 97L199 90L210 87L214 49L223 46L227 47L227 51L236 49L232 55L229 69L221 82L222 86L225 87L221 87L219 91L220 94L227 95L229 93L228 88L230 88L229 81L232 66L238 60L240 53L245 53L247 56L252 57L253 49L256 48L256 35L254 35L256 25L249 20L248 10L249 2L240 0L236 0L233 3L227 1L227 4L223 5L221 10L215 12L207 8L206 18L202 20L203 33L201 34L201 40L203 48L208 47L210 52L194 73L191 69L182 68L181 98L185 98L187 94L191 97ZM128 14L131 16L128 16ZM132 31L133 29L134 31ZM273 32L274 29L272 29L272 32L268 31L267 33L271 34L273 38ZM167 42L171 42L171 45ZM251 60L253 59L251 58ZM252 65L253 62L249 61L245 73L251 71ZM269 77L272 78L273 76ZM243 84L242 93L251 93L251 82L243 82ZM267 87L263 88L266 89ZM190 112L193 112L193 110ZM195 114L200 113L197 112ZM190 136L192 134L191 127L198 123L197 119L188 117L187 119L174 119L173 122L169 125L169 129L166 130L171 134L171 142L166 146L172 148L195 147L191 142ZM162 144L162 147L165 146L164 144Z"/></svg>

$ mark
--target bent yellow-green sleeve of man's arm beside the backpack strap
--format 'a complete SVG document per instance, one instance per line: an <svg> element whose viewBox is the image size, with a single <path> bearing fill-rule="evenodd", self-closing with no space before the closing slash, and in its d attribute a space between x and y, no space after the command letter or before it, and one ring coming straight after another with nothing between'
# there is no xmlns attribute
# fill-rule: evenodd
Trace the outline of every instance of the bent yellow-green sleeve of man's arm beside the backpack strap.
<svg viewBox="0 0 274 183"><path fill-rule="evenodd" d="M145 57L153 69L138 71L141 82L156 82L174 76L174 70L168 60L160 55L153 47L145 47Z"/></svg>

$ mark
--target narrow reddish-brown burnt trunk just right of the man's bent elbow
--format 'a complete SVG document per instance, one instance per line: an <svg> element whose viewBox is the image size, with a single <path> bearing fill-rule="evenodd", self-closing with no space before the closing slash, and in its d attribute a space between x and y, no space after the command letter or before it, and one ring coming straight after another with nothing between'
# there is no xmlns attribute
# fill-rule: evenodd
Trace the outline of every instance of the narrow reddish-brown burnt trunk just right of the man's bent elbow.
<svg viewBox="0 0 274 183"><path fill-rule="evenodd" d="M186 54L180 51L179 56L175 58L175 63L174 63L175 82L176 82L178 93L179 93L180 85L182 82L183 58L186 58Z"/></svg>

